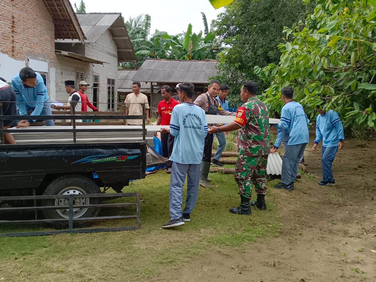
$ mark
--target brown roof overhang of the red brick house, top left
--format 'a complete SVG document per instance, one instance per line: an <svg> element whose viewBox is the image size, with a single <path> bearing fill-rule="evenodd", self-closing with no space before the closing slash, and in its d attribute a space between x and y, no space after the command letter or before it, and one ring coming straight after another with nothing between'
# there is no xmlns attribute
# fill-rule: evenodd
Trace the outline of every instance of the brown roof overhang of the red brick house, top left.
<svg viewBox="0 0 376 282"><path fill-rule="evenodd" d="M86 39L68 0L44 0L55 25L55 39L83 42Z"/></svg>

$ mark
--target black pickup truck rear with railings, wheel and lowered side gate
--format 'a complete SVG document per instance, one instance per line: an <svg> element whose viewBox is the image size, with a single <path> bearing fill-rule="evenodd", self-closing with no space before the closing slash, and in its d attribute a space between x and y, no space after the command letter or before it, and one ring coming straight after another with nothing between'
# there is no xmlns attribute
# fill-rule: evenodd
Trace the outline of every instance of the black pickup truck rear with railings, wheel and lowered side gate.
<svg viewBox="0 0 376 282"><path fill-rule="evenodd" d="M137 226L80 229L77 232L130 230L140 226L139 193L122 193L130 180L142 179L146 174L148 144L146 129L76 127L75 119L142 119L143 115L75 115L71 103L70 115L35 116L38 120L71 119L72 127L51 126L40 129L22 129L23 132L71 132L73 143L15 144L5 145L3 133L14 133L18 129L3 129L3 120L24 120L28 116L4 116L0 101L0 223L52 223L68 229L56 233L72 232L73 227L82 226L95 220L134 218ZM77 143L77 132L142 132L137 142ZM156 159L149 166L165 160ZM161 161L162 160L162 161ZM108 188L118 194L104 194ZM100 188L103 188L102 190ZM120 193L120 194L119 194ZM85 197L84 195L87 194ZM137 203L102 203L105 199L119 196L136 196ZM100 208L136 205L136 215L97 217ZM35 212L35 218L14 220L9 212ZM42 212L42 215L41 215ZM44 219L41 219L41 217ZM77 225L78 224L78 225ZM85 225L84 224L84 225ZM31 232L31 235L47 235L49 232ZM76 231L75 231L76 232ZM14 233L21 236L20 233ZM13 234L13 235L14 235ZM0 236L3 236L0 234Z"/></svg>

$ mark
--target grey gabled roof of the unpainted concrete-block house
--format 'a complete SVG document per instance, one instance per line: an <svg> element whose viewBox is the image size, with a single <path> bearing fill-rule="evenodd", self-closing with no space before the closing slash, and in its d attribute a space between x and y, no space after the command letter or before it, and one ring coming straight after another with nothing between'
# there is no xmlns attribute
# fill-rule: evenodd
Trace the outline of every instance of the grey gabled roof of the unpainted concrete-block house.
<svg viewBox="0 0 376 282"><path fill-rule="evenodd" d="M109 29L118 48L118 62L136 62L136 54L130 42L121 13L76 14L85 33L85 43L97 42L98 38ZM59 43L76 43L78 40L55 40Z"/></svg>

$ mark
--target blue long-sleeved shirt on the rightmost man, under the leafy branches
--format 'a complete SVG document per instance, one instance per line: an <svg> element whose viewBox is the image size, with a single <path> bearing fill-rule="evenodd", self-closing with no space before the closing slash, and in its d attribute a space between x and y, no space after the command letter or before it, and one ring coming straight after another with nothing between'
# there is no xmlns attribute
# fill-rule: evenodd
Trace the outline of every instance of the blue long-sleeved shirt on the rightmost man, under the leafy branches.
<svg viewBox="0 0 376 282"><path fill-rule="evenodd" d="M337 147L338 142L345 139L343 125L338 113L329 110L324 115L319 114L316 118L316 139L318 144L323 139L324 147Z"/></svg>

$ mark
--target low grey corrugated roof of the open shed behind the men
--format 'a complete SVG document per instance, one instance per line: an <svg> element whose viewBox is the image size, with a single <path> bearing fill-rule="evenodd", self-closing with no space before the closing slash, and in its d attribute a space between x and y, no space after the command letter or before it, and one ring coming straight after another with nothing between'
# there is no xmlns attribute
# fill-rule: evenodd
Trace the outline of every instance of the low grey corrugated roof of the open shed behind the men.
<svg viewBox="0 0 376 282"><path fill-rule="evenodd" d="M217 75L218 61L146 59L133 80L164 83L208 83Z"/></svg>

